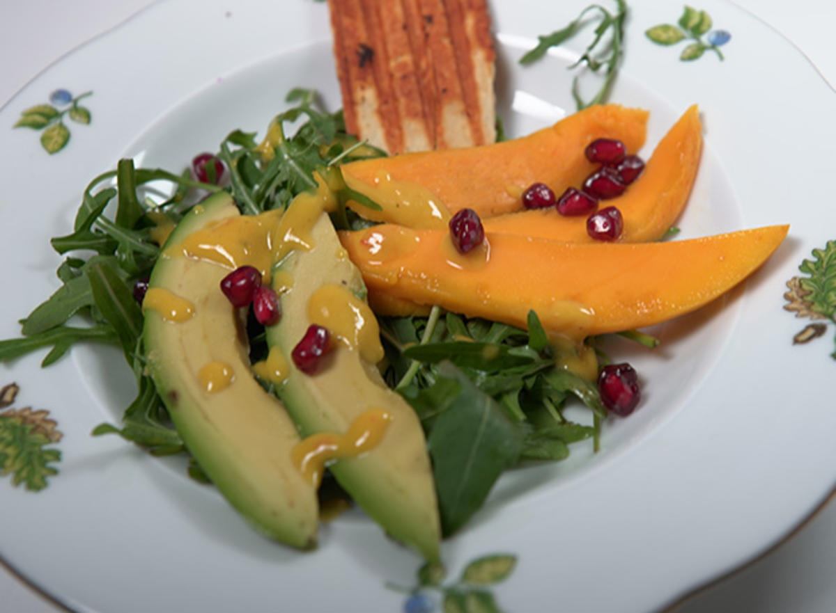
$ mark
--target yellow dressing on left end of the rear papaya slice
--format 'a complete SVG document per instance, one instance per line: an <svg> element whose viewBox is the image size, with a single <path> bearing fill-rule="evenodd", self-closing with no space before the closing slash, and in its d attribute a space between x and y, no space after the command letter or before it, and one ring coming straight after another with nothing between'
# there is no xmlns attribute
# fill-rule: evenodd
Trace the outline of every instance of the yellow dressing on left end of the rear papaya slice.
<svg viewBox="0 0 836 613"><path fill-rule="evenodd" d="M374 185L344 173L345 185L359 191L379 204L383 210L350 203L358 215L373 221L390 221L411 228L443 228L450 221L450 210L423 185L392 179L381 170L375 175Z"/></svg>

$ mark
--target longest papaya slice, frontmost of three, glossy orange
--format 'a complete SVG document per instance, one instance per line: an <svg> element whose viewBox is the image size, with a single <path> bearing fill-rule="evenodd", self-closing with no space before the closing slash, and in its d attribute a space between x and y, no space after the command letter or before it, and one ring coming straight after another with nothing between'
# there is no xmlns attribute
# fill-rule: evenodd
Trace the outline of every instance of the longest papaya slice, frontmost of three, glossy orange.
<svg viewBox="0 0 836 613"><path fill-rule="evenodd" d="M597 245L488 234L466 256L455 251L447 231L377 225L342 232L340 240L375 308L386 304L375 295L392 296L521 328L533 309L550 334L579 341L705 305L761 266L788 227Z"/></svg>

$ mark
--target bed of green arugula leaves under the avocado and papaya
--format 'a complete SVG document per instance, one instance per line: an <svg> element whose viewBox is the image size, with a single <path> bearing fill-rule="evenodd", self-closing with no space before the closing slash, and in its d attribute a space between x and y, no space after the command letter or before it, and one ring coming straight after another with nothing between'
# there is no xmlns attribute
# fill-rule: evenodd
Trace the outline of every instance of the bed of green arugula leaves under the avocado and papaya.
<svg viewBox="0 0 836 613"><path fill-rule="evenodd" d="M223 186L201 183L188 170L135 168L132 160L95 177L72 231L52 240L65 256L57 271L62 285L23 320L22 337L0 342L0 361L51 347L42 362L48 366L76 342L120 347L135 374L136 397L121 424L100 424L93 434L116 433L157 455L186 451L145 374L143 315L134 291L160 255L161 220L176 224L201 195L218 190L229 190L247 215L281 209L316 187L314 171L339 185L341 162L383 155L347 134L341 113L319 109L314 92L294 89L288 102L293 106L273 119L263 142L241 130L223 139L217 153L226 168ZM293 136L285 134L288 124L299 125ZM171 185L167 197L147 189L160 181ZM344 203L377 205L342 185L334 225L369 225ZM529 314L528 332L439 307L429 317L383 318L380 328L385 380L415 408L426 431L445 534L466 523L507 469L566 458L569 446L584 439L597 447L605 417L598 391L558 366L559 351L536 313ZM266 348L263 331L251 332L255 360ZM584 423L564 415L568 403L589 409ZM192 464L190 474L201 471Z"/></svg>

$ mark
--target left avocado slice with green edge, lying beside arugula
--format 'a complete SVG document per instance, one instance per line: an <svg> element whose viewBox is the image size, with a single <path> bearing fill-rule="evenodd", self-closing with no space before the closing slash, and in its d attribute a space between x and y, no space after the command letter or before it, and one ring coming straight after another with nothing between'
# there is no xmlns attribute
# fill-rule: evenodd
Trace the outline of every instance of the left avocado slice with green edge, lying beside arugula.
<svg viewBox="0 0 836 613"><path fill-rule="evenodd" d="M225 193L199 207L176 226L163 253L213 221L240 215ZM160 257L149 288L186 298L195 314L176 323L145 310L148 370L186 447L230 504L263 534L313 547L316 492L290 453L300 438L282 403L252 377L246 333L219 286L228 272L208 261ZM206 393L198 372L212 361L232 367L234 379L227 388Z"/></svg>

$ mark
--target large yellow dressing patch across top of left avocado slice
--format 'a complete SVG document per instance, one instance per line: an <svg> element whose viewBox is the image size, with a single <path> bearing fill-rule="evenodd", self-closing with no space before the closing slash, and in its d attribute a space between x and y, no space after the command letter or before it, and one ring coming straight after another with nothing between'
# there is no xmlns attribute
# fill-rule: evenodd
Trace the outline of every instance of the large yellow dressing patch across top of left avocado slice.
<svg viewBox="0 0 836 613"><path fill-rule="evenodd" d="M281 210L269 210L261 215L219 220L167 248L166 255L212 261L230 269L255 266L261 271L263 282L269 283L273 261L272 231L281 215Z"/></svg>

